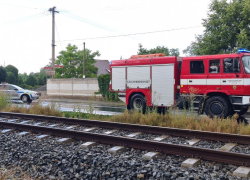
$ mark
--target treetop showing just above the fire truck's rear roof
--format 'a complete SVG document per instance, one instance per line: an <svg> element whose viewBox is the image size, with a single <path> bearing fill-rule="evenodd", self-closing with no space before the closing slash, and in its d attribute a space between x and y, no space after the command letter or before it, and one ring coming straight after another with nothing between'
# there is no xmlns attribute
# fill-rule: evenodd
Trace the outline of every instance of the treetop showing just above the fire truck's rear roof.
<svg viewBox="0 0 250 180"><path fill-rule="evenodd" d="M143 55L143 54L156 54L156 53L163 53L166 56L179 56L179 49L168 49L167 47L164 46L157 46L156 48L153 49L145 49L143 48L142 44L139 44L139 49L137 54L138 55Z"/></svg>

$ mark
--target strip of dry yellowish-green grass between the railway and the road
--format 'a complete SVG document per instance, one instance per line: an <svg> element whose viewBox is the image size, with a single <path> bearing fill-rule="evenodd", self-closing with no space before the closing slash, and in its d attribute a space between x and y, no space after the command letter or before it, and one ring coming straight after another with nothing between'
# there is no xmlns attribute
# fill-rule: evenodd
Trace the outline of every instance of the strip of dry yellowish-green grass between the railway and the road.
<svg viewBox="0 0 250 180"><path fill-rule="evenodd" d="M182 111L181 113L178 112L178 110L169 110L169 113L166 113L165 115L158 114L156 113L156 111L153 111L152 113L147 112L146 114L141 114L136 111L129 112L126 110L123 114L120 115L105 116L94 114L94 108L92 107L91 103L89 104L89 108L85 110L87 113L81 112L82 107L80 105L77 105L77 107L74 108L73 112L61 112L60 104L57 106L55 104L52 104L50 106L43 106L38 102L33 103L29 108L27 108L26 106L13 106L8 103L4 104L4 101L1 100L1 98L0 107L2 107L1 110L4 112L103 120L150 126L250 135L250 125L238 123L237 115L234 115L233 117L227 119L210 119L207 116L198 116L196 113L189 112L188 110L184 112Z"/></svg>

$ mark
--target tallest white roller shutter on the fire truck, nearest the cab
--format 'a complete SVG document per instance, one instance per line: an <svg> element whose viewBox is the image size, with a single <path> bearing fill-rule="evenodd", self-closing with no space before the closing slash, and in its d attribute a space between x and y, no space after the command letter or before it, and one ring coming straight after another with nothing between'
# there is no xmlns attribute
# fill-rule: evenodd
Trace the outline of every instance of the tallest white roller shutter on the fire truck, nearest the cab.
<svg viewBox="0 0 250 180"><path fill-rule="evenodd" d="M174 64L152 66L152 104L174 104Z"/></svg>

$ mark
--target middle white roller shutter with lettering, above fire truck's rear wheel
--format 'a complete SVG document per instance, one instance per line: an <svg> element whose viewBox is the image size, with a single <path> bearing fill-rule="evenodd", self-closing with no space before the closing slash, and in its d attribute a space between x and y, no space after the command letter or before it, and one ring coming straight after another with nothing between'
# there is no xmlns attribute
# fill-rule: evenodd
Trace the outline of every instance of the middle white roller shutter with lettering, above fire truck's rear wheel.
<svg viewBox="0 0 250 180"><path fill-rule="evenodd" d="M127 68L128 88L150 88L150 67L133 66Z"/></svg>

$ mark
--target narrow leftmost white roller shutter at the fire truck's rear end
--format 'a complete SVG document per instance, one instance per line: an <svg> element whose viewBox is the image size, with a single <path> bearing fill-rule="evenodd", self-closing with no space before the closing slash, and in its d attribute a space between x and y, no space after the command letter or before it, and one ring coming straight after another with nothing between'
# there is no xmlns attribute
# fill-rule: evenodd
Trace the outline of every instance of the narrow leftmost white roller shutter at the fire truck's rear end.
<svg viewBox="0 0 250 180"><path fill-rule="evenodd" d="M125 91L125 67L112 67L112 90Z"/></svg>

